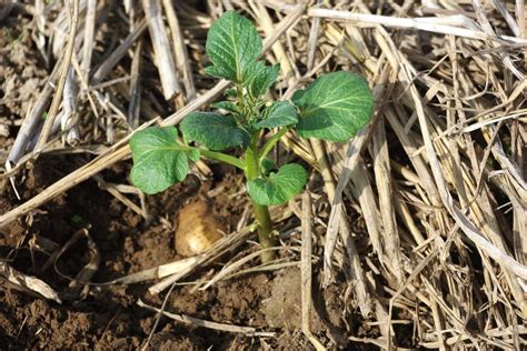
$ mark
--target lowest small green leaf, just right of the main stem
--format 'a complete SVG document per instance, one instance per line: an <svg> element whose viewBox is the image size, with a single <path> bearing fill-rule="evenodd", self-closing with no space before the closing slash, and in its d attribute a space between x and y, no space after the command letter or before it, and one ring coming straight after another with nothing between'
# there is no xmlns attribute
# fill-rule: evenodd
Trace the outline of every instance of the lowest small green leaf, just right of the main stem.
<svg viewBox="0 0 527 351"><path fill-rule="evenodd" d="M306 184L307 172L300 164L282 166L267 179L257 178L247 182L247 192L258 204L280 204L299 193Z"/></svg>

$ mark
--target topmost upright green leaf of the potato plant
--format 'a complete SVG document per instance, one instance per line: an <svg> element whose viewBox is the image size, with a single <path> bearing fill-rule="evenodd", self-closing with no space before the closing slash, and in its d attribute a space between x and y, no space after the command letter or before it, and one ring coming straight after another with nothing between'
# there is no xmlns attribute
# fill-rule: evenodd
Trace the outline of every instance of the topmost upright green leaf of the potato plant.
<svg viewBox="0 0 527 351"><path fill-rule="evenodd" d="M213 63L207 73L242 83L247 69L261 54L261 38L251 21L227 11L210 28L206 49Z"/></svg>

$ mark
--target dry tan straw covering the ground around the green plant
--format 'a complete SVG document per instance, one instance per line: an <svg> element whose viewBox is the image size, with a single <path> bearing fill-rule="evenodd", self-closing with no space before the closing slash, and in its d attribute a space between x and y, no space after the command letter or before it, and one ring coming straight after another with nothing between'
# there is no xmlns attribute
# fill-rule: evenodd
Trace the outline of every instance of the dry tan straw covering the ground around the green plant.
<svg viewBox="0 0 527 351"><path fill-rule="evenodd" d="M9 77L0 77L0 156L6 164L0 227L31 228L34 219L46 221L39 208L118 162L129 163L127 144L135 130L177 124L217 100L229 87L205 79L203 46L208 28L227 10L252 18L266 38L267 60L280 63L275 98L290 97L322 73L348 70L366 77L374 89L375 118L349 143L286 134L275 157L301 159L312 172L310 198L305 195L301 204L291 200L271 213L284 228L290 228L292 213L302 223L292 234L280 233L275 264L251 265L258 251L246 243L252 235L246 222L173 271L161 274L152 267L145 279L163 280L150 292L160 293L192 272L209 272L216 267L207 265L210 262L223 260L225 271L213 278L191 275L198 288L299 265L301 257L302 289L312 284L314 290L301 294L302 331L316 349L350 343L385 349L526 348L523 0L1 4L0 21L30 21L21 39L9 38L8 29L0 28L0 76ZM48 76L38 89L22 71L10 70L8 53L12 58L21 50L19 40L34 46L37 61L46 62ZM42 74L42 67L38 69ZM14 94L12 80L21 81L19 87L28 81L22 88L33 91ZM30 166L57 154L71 154L83 166L24 195L20 190ZM199 176L200 170L207 168L198 164L193 172ZM111 184L105 189L112 197L148 218L142 194L137 197L126 180L108 182L106 176L100 173L97 181ZM325 294L315 293L322 290ZM328 305L331 292L345 308L337 320L325 321L326 331L312 334L307 315L317 304ZM172 317L229 329L229 321L207 324ZM249 327L232 328L257 338L264 348L268 330L261 328L259 334L260 329Z"/></svg>

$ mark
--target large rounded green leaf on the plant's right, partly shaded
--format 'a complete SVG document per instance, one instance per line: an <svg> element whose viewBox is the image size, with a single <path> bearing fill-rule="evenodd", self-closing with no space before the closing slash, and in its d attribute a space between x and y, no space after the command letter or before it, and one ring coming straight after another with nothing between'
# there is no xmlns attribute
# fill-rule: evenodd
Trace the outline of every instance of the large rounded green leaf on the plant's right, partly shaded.
<svg viewBox="0 0 527 351"><path fill-rule="evenodd" d="M366 126L374 98L366 80L350 72L321 76L292 96L300 109L297 130L302 138L347 141Z"/></svg>

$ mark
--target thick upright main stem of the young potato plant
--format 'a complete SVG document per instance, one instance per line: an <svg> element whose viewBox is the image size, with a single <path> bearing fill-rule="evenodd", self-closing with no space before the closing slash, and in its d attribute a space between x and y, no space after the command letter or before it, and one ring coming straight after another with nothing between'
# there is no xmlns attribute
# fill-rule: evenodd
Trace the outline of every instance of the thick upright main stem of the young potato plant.
<svg viewBox="0 0 527 351"><path fill-rule="evenodd" d="M257 133L258 134L258 133ZM251 146L246 152L246 178L248 181L255 180L260 176L260 161L257 149L258 138L253 138ZM272 222L269 214L269 208L267 205L258 204L252 201L252 210L255 212L255 219L258 222L258 239L262 249L269 249L276 247L278 240L272 232ZM264 251L260 255L261 262L267 263L275 260L275 251Z"/></svg>

